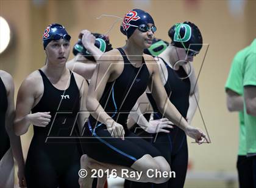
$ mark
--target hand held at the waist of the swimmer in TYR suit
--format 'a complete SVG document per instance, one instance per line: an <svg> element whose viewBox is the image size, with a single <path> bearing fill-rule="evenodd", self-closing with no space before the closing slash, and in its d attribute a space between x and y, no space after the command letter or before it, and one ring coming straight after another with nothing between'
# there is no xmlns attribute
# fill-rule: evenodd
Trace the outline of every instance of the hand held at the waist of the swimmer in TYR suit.
<svg viewBox="0 0 256 188"><path fill-rule="evenodd" d="M27 115L30 123L38 127L46 127L51 121L50 112L37 112Z"/></svg>

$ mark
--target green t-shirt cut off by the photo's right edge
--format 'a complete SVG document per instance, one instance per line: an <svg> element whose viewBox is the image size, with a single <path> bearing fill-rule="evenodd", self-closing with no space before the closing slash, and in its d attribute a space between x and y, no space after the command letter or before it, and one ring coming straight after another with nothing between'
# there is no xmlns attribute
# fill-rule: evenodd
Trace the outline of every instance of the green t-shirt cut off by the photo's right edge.
<svg viewBox="0 0 256 188"><path fill-rule="evenodd" d="M243 86L256 87L256 39L249 46L243 65ZM256 153L256 117L248 115L244 107L244 124L246 125L246 150Z"/></svg>

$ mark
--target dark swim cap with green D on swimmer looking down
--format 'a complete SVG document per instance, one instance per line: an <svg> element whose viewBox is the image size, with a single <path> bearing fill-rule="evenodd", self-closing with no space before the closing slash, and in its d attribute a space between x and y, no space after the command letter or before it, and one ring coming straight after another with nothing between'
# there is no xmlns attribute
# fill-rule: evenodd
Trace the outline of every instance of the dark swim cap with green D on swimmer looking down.
<svg viewBox="0 0 256 188"><path fill-rule="evenodd" d="M191 49L199 52L202 49L202 35L199 28L189 22L172 25L168 32L171 44L183 49Z"/></svg>

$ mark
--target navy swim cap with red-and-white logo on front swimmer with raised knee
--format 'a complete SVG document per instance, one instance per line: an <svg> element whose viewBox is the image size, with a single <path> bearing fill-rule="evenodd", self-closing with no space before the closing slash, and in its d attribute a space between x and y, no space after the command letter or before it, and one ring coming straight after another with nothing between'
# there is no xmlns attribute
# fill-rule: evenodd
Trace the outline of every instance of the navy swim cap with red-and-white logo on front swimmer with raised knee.
<svg viewBox="0 0 256 188"><path fill-rule="evenodd" d="M141 9L132 9L124 16L120 30L127 38L130 38L132 33L137 29L137 27L133 27L132 25L140 26L142 24L147 25L155 23L149 13Z"/></svg>

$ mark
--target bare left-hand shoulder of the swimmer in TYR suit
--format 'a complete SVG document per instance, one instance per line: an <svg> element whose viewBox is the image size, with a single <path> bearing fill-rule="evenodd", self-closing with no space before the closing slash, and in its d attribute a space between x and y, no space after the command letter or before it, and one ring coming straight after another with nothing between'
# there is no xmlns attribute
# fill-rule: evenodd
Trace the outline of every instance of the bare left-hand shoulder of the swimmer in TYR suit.
<svg viewBox="0 0 256 188"><path fill-rule="evenodd" d="M40 95L43 93L44 86L43 86L43 79L40 75L38 70L30 73L27 78L21 84L19 92L26 92L29 91L32 94Z"/></svg>

